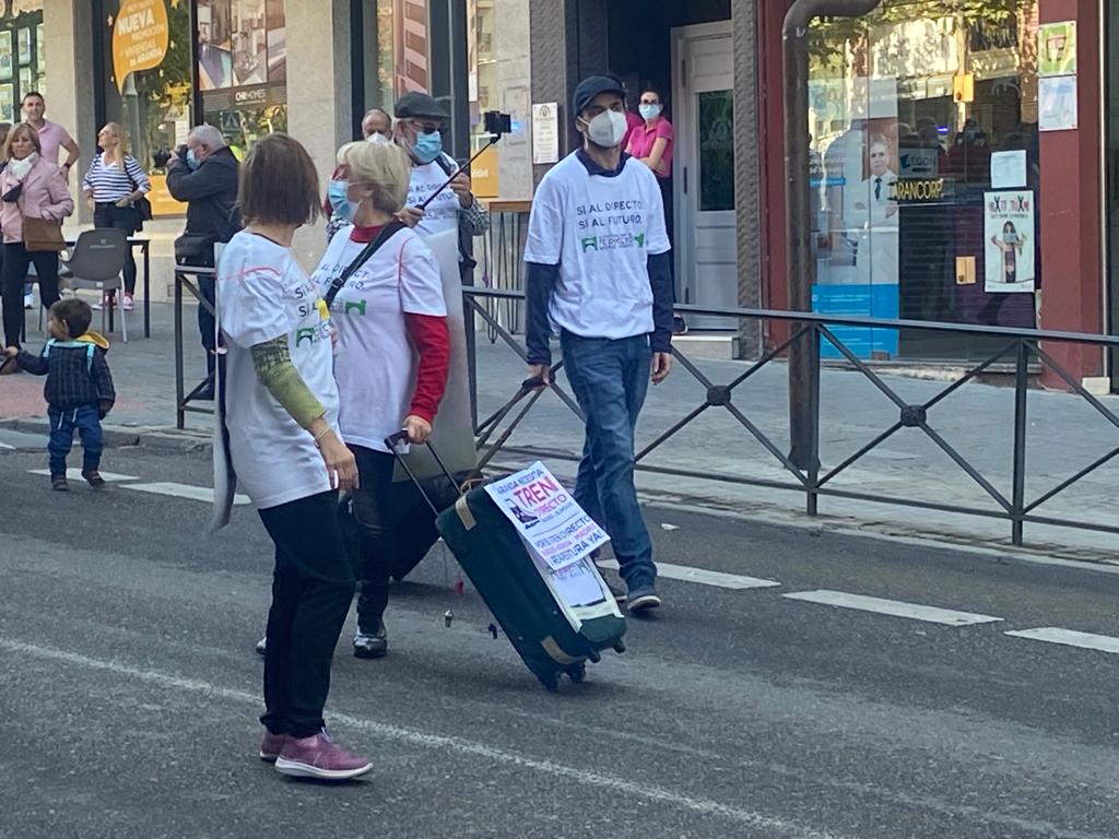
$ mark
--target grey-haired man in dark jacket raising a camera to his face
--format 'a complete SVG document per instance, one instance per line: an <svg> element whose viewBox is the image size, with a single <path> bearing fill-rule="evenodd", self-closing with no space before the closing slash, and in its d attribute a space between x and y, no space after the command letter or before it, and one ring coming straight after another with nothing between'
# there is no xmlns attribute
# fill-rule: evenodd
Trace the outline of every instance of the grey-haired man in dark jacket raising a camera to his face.
<svg viewBox="0 0 1119 839"><path fill-rule="evenodd" d="M167 163L167 190L178 201L187 204L187 228L175 242L175 261L179 265L213 267L214 245L228 242L241 229L237 204L237 158L213 125L198 125ZM214 277L199 276L198 291L214 305ZM214 367L217 346L214 313L198 305L198 331L206 349L206 386L199 398L214 396Z"/></svg>

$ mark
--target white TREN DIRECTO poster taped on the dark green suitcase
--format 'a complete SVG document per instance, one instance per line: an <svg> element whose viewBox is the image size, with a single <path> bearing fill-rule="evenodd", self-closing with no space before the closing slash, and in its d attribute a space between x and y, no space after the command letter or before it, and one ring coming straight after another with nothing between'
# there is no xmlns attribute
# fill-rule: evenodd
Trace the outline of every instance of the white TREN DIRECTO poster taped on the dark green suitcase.
<svg viewBox="0 0 1119 839"><path fill-rule="evenodd" d="M486 492L517 528L529 550L553 572L585 559L609 540L539 461L488 484Z"/></svg>

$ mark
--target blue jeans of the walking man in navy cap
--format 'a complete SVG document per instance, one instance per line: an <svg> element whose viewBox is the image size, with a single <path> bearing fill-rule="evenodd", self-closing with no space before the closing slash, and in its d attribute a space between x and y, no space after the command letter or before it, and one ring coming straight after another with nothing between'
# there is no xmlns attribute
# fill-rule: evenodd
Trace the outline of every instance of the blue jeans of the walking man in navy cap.
<svg viewBox="0 0 1119 839"><path fill-rule="evenodd" d="M575 500L610 535L629 590L651 586L657 566L633 486L633 432L649 389L649 339L564 332L560 346L567 380L586 417Z"/></svg>

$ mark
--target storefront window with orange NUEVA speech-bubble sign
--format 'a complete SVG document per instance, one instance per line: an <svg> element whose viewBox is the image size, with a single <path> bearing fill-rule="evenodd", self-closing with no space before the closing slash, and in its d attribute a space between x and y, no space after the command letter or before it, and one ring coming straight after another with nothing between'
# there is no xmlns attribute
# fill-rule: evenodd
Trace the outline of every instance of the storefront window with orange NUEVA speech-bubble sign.
<svg viewBox="0 0 1119 839"><path fill-rule="evenodd" d="M162 167L190 131L188 0L101 0L102 122L121 124L131 153L151 173L156 215L185 211L167 194Z"/></svg>

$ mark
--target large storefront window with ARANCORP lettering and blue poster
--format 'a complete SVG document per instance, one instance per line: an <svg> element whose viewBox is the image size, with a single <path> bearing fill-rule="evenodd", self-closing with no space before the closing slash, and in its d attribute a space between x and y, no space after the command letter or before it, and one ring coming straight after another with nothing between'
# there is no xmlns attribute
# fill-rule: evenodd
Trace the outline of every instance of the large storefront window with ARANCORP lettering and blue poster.
<svg viewBox="0 0 1119 839"><path fill-rule="evenodd" d="M1034 326L1037 40L1037 0L885 0L869 17L815 25L818 311ZM966 358L989 345L844 338L878 359Z"/></svg>

